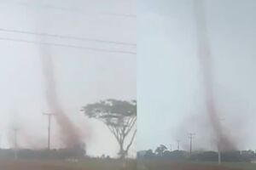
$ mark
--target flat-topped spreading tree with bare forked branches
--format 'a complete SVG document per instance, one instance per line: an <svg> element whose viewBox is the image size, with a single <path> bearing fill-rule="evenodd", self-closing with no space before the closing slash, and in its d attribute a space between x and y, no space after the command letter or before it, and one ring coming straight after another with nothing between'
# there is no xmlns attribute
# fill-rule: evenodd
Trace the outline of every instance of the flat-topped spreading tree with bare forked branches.
<svg viewBox="0 0 256 170"><path fill-rule="evenodd" d="M106 99L84 106L83 111L86 116L107 125L119 143L120 158L125 158L137 133L137 129L134 128L137 122L137 101ZM127 143L127 136L130 133L132 133L131 139Z"/></svg>

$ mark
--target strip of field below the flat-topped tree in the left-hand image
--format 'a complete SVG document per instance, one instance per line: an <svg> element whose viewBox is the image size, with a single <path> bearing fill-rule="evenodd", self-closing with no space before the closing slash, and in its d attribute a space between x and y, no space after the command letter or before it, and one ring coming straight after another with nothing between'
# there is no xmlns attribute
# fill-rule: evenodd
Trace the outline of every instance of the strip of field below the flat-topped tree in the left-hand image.
<svg viewBox="0 0 256 170"><path fill-rule="evenodd" d="M136 161L129 161L125 169L135 170ZM90 159L79 162L67 161L14 161L1 160L1 170L121 170L122 162L117 160Z"/></svg>

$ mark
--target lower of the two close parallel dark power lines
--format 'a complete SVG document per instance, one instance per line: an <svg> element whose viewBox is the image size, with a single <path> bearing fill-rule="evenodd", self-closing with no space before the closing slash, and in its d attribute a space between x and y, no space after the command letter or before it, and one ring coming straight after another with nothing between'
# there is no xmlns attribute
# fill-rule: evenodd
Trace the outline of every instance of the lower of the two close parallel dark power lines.
<svg viewBox="0 0 256 170"><path fill-rule="evenodd" d="M68 44L62 44L62 43L36 42L36 41L28 41L28 40L9 38L9 37L0 37L0 40L11 41L11 42L26 42L26 43L49 45L49 46L64 47L64 48L87 49L87 50L90 50L90 51L97 51L97 52L103 52L103 53L137 54L136 52L132 52L132 51L108 50L108 49L102 49L102 48L90 48L90 47L75 46L75 45L68 45Z"/></svg>

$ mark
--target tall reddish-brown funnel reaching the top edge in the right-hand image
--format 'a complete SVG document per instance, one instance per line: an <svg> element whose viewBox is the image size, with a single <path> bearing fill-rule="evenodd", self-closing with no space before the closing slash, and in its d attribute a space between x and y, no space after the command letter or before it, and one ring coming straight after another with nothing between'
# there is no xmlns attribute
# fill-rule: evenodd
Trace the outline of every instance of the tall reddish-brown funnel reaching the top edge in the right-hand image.
<svg viewBox="0 0 256 170"><path fill-rule="evenodd" d="M195 0L195 21L198 42L198 57L201 62L201 71L203 76L203 87L206 95L207 114L212 126L213 135L218 150L229 151L236 150L236 144L229 134L224 133L221 125L221 116L218 115L216 101L214 99L214 90L212 87L214 72L212 69L212 57L208 44L207 23L205 18L204 4L202 0Z"/></svg>

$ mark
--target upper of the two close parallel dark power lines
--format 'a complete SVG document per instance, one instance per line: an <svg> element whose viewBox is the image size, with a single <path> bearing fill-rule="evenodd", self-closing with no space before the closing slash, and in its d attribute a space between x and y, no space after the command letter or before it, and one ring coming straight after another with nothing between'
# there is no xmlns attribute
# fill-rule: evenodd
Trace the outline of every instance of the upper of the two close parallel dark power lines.
<svg viewBox="0 0 256 170"><path fill-rule="evenodd" d="M73 39L73 40L79 40L79 41L104 42L104 43L113 43L113 44L119 44L119 45L129 45L129 46L135 46L135 47L137 46L136 43L130 43L130 42L116 42L116 41L109 41L109 40L93 39L88 37L71 37L71 36L63 36L58 34L49 34L44 32L20 31L20 30L6 29L6 28L0 28L0 31L30 34L30 35L45 36L45 37L57 37L61 39Z"/></svg>

